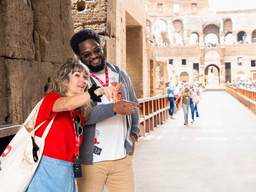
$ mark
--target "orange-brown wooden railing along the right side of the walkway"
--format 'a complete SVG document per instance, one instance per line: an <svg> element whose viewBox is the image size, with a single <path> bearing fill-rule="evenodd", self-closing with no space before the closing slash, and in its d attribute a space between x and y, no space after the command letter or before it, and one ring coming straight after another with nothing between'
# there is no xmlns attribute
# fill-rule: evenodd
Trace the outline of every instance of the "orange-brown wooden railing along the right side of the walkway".
<svg viewBox="0 0 256 192"><path fill-rule="evenodd" d="M226 91L256 114L256 92L227 85Z"/></svg>

